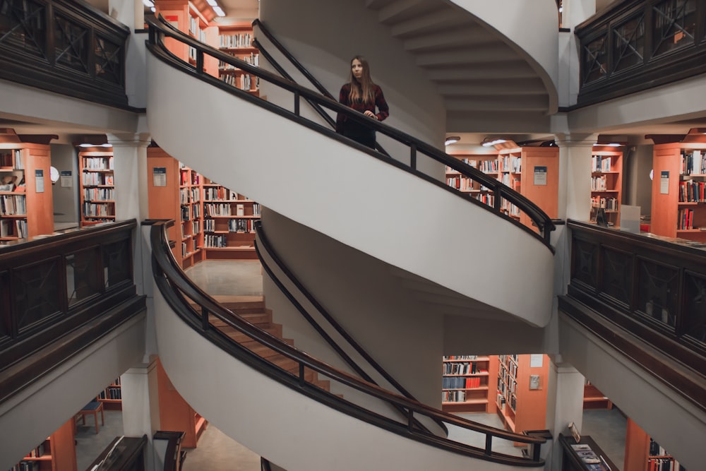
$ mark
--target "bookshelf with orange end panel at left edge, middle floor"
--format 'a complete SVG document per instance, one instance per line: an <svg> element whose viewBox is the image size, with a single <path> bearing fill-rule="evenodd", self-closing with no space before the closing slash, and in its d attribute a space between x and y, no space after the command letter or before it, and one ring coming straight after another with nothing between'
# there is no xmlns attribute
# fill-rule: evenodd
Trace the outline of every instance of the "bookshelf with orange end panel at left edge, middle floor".
<svg viewBox="0 0 706 471"><path fill-rule="evenodd" d="M54 232L49 145L0 143L0 243Z"/></svg>

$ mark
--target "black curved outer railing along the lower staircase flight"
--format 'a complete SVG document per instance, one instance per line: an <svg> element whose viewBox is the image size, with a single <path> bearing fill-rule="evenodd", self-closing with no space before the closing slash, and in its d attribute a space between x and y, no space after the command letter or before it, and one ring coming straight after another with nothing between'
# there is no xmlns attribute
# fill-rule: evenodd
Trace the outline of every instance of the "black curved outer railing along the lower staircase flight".
<svg viewBox="0 0 706 471"><path fill-rule="evenodd" d="M194 285L179 267L179 263L177 263L169 247L169 236L167 234L167 227L173 225L174 220L150 221L150 224L152 224L152 229L150 230L152 275L160 293L182 321L227 354L257 369L262 374L268 375L268 377L274 381L278 381L288 388L297 390L299 393L307 395L313 400L317 400L328 407L332 407L335 410L376 427L381 427L395 434L399 434L400 436L406 436L408 439L465 455L469 458L488 460L493 463L522 467L541 467L544 465L544 460L539 458L539 446L546 442L546 439L542 437L513 434L504 429L496 429L484 424L471 422L461 417L441 412L433 407L419 403L416 400L411 400L396 393L392 393L372 383L351 376L345 373L345 371L335 369L333 366L321 362L311 357L311 355L306 352L292 347L292 345L287 344L287 342L261 330L252 323L245 321L240 316L236 316L232 311L218 304L213 297L210 297L210 295L206 294L201 288ZM201 307L200 311L194 309L191 302L196 302L196 304ZM209 316L219 319L226 323L227 326L239 330L239 332L259 342L261 345L268 347L270 350L297 362L299 365L299 374L295 375L281 369L279 366L268 361L268 359L260 357L239 342L220 333L217 328L209 323ZM390 417L385 417L377 412L367 410L360 405L351 403L344 398L318 388L318 386L314 386L312 383L309 383L309 381L306 381L304 375L306 369L315 371L325 376L330 381L340 383L342 386L358 390L371 399L381 400L388 405L402 407L408 410L407 422L397 422ZM415 415L426 416L430 419L440 419L456 427L484 434L486 437L485 448L470 446L417 429L413 427L414 420L416 419ZM493 437L531 444L533 451L526 458L492 451Z"/></svg>

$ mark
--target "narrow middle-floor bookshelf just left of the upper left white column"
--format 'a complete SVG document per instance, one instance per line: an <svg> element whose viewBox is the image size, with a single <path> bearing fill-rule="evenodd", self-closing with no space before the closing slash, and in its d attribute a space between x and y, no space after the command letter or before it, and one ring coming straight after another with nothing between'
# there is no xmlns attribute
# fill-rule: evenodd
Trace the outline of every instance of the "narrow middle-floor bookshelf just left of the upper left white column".
<svg viewBox="0 0 706 471"><path fill-rule="evenodd" d="M115 221L113 150L85 147L78 150L81 226Z"/></svg>

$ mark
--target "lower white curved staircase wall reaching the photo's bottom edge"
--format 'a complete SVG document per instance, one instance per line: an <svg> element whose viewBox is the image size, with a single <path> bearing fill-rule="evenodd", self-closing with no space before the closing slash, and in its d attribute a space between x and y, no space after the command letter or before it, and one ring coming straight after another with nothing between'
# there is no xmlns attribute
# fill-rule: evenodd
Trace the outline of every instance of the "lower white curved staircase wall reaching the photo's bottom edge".
<svg viewBox="0 0 706 471"><path fill-rule="evenodd" d="M156 287L155 322L160 360L186 402L287 471L516 470L426 446L290 390L186 326Z"/></svg>

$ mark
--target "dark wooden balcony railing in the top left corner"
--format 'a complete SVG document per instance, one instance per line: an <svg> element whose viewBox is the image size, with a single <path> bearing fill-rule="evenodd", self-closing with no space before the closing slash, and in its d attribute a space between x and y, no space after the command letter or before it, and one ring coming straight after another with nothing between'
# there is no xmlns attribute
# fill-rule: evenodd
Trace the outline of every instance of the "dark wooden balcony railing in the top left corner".
<svg viewBox="0 0 706 471"><path fill-rule="evenodd" d="M129 28L81 0L5 0L1 6L0 78L128 107Z"/></svg>

